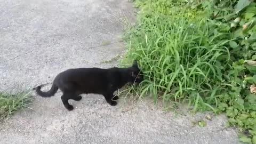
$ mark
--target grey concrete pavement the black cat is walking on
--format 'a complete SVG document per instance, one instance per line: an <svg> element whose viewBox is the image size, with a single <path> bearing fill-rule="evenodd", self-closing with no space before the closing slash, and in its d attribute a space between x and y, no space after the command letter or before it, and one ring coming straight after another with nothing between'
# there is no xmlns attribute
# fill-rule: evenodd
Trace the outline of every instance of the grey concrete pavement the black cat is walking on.
<svg viewBox="0 0 256 144"><path fill-rule="evenodd" d="M132 13L127 0L0 0L0 89L51 83L68 68L116 66L111 59L124 53L118 21ZM199 128L193 122L204 114L165 113L148 100L111 107L93 94L67 111L60 94L34 95L33 110L0 124L0 143L238 143L223 116Z"/></svg>

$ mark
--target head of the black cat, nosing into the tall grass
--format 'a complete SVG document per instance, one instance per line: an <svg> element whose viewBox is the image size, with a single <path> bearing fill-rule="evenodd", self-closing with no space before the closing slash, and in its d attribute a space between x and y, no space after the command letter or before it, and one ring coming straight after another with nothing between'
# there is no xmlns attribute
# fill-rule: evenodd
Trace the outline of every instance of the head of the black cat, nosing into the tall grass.
<svg viewBox="0 0 256 144"><path fill-rule="evenodd" d="M140 83L143 80L143 73L138 67L137 60L134 60L132 63L132 67L130 67L130 82Z"/></svg>

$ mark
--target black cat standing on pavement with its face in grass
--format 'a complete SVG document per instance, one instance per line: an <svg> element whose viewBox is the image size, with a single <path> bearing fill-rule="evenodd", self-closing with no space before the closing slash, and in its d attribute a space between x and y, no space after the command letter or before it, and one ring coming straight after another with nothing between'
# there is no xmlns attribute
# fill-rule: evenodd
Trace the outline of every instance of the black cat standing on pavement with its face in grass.
<svg viewBox="0 0 256 144"><path fill-rule="evenodd" d="M63 93L61 100L68 110L73 110L68 100L79 101L82 93L102 94L106 101L115 106L118 96L113 93L127 83L140 83L143 81L143 73L139 69L137 61L133 61L129 68L77 68L68 69L57 75L49 91L41 91L41 86L36 87L36 93L42 97L53 96L58 89ZM113 99L113 100L112 100Z"/></svg>

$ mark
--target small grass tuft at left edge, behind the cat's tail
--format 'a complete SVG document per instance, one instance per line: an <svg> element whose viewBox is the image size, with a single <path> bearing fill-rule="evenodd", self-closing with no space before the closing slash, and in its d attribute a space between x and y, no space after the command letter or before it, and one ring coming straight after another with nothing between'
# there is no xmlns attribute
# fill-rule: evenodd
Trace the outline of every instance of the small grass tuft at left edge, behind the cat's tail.
<svg viewBox="0 0 256 144"><path fill-rule="evenodd" d="M0 92L0 122L8 119L14 111L28 107L31 95L28 92Z"/></svg>

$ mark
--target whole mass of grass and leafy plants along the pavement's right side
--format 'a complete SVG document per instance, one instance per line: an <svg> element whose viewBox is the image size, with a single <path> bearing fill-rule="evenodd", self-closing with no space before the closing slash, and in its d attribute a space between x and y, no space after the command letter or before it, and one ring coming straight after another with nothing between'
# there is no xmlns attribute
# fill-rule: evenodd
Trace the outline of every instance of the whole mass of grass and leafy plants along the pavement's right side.
<svg viewBox="0 0 256 144"><path fill-rule="evenodd" d="M249 0L136 0L122 63L139 60L137 92L225 113L239 138L256 144L256 3Z"/></svg>

